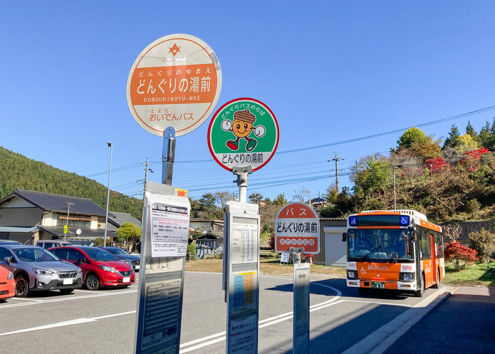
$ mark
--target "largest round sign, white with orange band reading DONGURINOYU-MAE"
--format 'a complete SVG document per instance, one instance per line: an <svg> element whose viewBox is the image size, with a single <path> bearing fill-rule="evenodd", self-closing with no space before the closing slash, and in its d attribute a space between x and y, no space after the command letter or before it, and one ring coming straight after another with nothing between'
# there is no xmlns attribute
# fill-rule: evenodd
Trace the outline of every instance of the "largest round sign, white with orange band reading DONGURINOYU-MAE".
<svg viewBox="0 0 495 354"><path fill-rule="evenodd" d="M210 116L220 96L222 71L213 50L186 34L162 37L139 54L127 79L127 103L147 132L180 136Z"/></svg>

